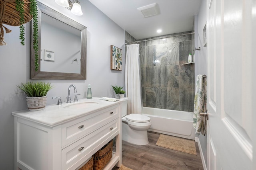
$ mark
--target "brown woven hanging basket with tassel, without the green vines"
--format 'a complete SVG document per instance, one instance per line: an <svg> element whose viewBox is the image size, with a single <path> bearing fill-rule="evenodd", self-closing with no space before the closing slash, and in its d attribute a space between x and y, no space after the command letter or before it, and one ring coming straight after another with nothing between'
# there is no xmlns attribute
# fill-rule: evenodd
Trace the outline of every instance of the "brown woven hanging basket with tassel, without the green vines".
<svg viewBox="0 0 256 170"><path fill-rule="evenodd" d="M24 23L32 20L30 15L30 0L24 1ZM6 28L3 24L11 26L20 26L20 12L16 10L15 0L0 0L0 45L6 45L4 42L4 29L6 33L11 30Z"/></svg>

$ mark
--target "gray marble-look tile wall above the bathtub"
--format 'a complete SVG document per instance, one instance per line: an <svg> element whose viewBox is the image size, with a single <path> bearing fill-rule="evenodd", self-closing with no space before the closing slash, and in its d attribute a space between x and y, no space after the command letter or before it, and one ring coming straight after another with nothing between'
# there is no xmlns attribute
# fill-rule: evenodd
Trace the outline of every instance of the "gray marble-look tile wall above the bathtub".
<svg viewBox="0 0 256 170"><path fill-rule="evenodd" d="M140 42L143 106L193 111L194 64L182 64L193 53L194 35L168 36Z"/></svg>

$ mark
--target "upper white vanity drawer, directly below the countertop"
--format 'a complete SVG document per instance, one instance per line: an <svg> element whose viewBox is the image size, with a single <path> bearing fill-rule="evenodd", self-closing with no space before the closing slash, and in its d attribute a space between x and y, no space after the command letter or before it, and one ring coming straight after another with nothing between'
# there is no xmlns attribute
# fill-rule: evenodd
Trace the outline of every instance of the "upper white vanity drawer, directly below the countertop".
<svg viewBox="0 0 256 170"><path fill-rule="evenodd" d="M92 112L84 117L61 125L61 147L68 146L73 141L92 133L117 117L119 117L118 105Z"/></svg>

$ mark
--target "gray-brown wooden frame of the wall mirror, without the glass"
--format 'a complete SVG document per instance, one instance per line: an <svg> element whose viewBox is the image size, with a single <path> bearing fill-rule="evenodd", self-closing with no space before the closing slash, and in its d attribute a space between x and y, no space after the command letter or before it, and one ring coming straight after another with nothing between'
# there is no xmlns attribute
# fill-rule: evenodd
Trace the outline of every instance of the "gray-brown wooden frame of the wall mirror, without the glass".
<svg viewBox="0 0 256 170"><path fill-rule="evenodd" d="M31 54L30 54L30 78L31 79L62 79L62 80L86 80L86 50L87 50L87 27L77 23L74 20L52 10L51 8L37 2L38 4L38 46L39 46L39 57L38 71L35 71L35 52L33 49L33 41L31 40ZM81 31L81 73L66 73L66 72L46 72L40 71L40 56L41 56L41 15L42 13L52 16L57 20L60 20L72 27ZM31 24L32 25L32 24ZM31 35L33 29L31 28Z"/></svg>

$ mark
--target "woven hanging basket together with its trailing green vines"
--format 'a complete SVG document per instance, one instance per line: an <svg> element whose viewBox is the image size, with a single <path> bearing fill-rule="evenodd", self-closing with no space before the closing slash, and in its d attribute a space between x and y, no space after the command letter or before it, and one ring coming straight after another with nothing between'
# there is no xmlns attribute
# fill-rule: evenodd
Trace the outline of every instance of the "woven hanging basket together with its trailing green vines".
<svg viewBox="0 0 256 170"><path fill-rule="evenodd" d="M0 45L4 42L4 29L6 33L11 30L3 24L20 26L20 43L25 45L24 23L33 19L33 49L35 51L35 70L38 70L38 10L36 0L0 0Z"/></svg>

